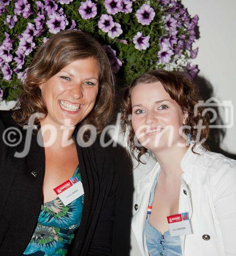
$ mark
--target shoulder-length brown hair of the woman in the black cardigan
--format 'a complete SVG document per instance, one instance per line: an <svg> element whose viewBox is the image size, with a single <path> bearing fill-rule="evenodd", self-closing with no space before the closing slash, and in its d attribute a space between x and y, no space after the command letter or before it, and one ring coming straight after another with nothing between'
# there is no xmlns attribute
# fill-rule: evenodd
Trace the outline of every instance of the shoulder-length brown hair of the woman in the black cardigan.
<svg viewBox="0 0 236 256"><path fill-rule="evenodd" d="M100 64L99 92L89 115L80 123L92 124L100 133L113 109L113 85L110 63L105 50L89 34L80 30L65 30L53 35L39 47L27 71L22 93L14 105L13 119L21 126L35 113L48 114L39 84L49 80L69 63L92 57ZM36 118L39 123L40 118Z"/></svg>

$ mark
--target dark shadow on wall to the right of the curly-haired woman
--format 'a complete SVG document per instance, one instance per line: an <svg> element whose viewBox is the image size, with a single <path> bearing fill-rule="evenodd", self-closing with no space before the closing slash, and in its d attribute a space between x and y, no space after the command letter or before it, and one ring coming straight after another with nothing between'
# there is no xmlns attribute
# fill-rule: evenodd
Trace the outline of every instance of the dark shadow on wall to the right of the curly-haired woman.
<svg viewBox="0 0 236 256"><path fill-rule="evenodd" d="M198 85L199 94L200 94L201 98L204 100L204 102L207 101L209 98L213 97L213 100L211 100L209 103L213 103L213 104L219 103L219 102L217 102L217 99L214 98L213 86L210 84L210 82L208 80L206 80L202 76L196 76L194 78L194 82ZM225 123L224 122L225 117L221 116L222 114L220 114L220 110L219 110L220 105L218 104L217 106L213 106L213 105L209 105L209 106L210 106L210 108L213 109L213 111L207 112L209 114L210 120L212 120L210 122L210 124L214 125L214 126L223 125ZM223 141L225 134L226 134L226 128L211 127L210 132L209 132L209 137L207 139L207 144L211 151L223 154L226 157L236 160L236 154L232 154L230 152L224 151L220 147L220 144Z"/></svg>

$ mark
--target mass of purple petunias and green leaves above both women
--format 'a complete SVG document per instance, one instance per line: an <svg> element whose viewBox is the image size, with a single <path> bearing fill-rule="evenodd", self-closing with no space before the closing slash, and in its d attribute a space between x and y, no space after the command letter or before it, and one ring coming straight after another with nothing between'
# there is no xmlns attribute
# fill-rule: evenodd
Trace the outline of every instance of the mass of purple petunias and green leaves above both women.
<svg viewBox="0 0 236 256"><path fill-rule="evenodd" d="M194 77L197 22L175 0L0 0L0 99L17 99L37 48L65 29L95 36L122 84L156 68Z"/></svg>

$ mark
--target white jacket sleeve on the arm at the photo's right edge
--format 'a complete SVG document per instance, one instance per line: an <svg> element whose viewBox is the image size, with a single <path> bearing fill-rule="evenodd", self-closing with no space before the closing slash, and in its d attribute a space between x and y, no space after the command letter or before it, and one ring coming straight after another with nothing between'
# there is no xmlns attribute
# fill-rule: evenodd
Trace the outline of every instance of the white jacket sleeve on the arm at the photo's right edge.
<svg viewBox="0 0 236 256"><path fill-rule="evenodd" d="M214 186L214 201L219 219L224 252L226 255L236 255L236 161L219 170L220 177Z"/></svg>

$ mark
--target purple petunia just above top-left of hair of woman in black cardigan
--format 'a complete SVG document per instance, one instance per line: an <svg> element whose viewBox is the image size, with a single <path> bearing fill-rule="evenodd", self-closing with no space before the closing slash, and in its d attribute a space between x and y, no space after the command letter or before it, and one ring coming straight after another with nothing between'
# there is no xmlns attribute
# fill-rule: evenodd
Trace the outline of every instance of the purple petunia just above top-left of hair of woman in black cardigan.
<svg viewBox="0 0 236 256"><path fill-rule="evenodd" d="M53 13L49 16L46 25L48 26L50 33L56 34L65 29L65 26L68 25L68 20L64 15Z"/></svg>

